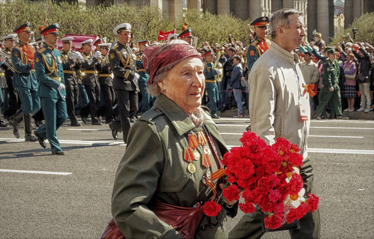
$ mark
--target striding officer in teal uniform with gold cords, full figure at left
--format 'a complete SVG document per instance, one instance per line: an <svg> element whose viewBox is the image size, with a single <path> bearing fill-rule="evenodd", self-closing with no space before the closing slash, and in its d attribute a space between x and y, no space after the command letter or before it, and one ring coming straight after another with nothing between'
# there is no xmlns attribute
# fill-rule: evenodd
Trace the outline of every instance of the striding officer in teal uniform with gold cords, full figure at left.
<svg viewBox="0 0 374 239"><path fill-rule="evenodd" d="M65 155L56 134L56 130L67 119L62 57L55 48L59 35L58 24L49 25L40 34L43 34L46 43L35 54L35 72L46 123L37 128L34 134L43 148L46 148L45 140L48 139L52 155Z"/></svg>

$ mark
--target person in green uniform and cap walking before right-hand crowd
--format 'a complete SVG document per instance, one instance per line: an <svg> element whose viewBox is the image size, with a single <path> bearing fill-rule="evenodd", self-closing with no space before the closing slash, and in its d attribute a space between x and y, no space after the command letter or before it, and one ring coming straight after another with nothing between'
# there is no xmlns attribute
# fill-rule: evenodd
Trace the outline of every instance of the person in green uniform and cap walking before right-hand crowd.
<svg viewBox="0 0 374 239"><path fill-rule="evenodd" d="M322 74L322 88L318 95L319 105L316 109L317 119L321 119L322 111L325 109L327 103L331 103L331 115L336 115L338 119L348 119L343 116L341 112L340 88L339 88L339 64L335 58L337 54L333 47L326 47L325 51L327 58L324 63Z"/></svg>

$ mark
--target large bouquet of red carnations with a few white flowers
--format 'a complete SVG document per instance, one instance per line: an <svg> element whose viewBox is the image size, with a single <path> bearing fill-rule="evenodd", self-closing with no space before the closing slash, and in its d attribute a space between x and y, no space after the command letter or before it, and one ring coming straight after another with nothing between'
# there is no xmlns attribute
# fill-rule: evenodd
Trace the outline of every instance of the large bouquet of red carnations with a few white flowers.
<svg viewBox="0 0 374 239"><path fill-rule="evenodd" d="M247 131L240 138L243 146L234 147L223 157L227 181L232 185L223 190L229 201L239 199L244 213L254 212L258 205L264 212L265 227L277 229L284 223L299 220L317 209L319 198L308 194L304 198L304 182L299 167L303 165L300 148L284 138L272 146Z"/></svg>

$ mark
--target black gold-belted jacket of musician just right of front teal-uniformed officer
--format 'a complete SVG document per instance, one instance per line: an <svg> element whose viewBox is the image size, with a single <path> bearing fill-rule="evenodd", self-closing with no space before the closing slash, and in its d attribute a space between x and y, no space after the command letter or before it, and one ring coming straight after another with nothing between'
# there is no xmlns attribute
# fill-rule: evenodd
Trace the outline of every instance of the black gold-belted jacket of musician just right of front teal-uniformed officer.
<svg viewBox="0 0 374 239"><path fill-rule="evenodd" d="M61 50L62 68L64 69L65 84L76 85L78 84L77 71L80 70L82 63L69 57L71 54L73 54L72 51Z"/></svg>

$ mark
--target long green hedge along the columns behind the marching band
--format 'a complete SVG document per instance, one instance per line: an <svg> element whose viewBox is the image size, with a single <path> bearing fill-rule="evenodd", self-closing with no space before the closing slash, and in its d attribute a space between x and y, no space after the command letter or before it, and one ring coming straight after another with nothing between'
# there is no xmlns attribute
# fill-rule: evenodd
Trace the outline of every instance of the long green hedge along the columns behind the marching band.
<svg viewBox="0 0 374 239"><path fill-rule="evenodd" d="M233 38L248 44L248 33L246 22L233 16L212 15L211 13L200 13L196 10L188 10L185 18L177 22L168 19L165 13L157 7L142 6L135 7L128 4L104 5L84 7L78 4L68 4L53 1L24 1L15 0L10 3L0 4L0 37L4 37L24 22L31 22L34 38L39 38L38 27L43 26L44 18L47 17L49 24L58 22L61 35L81 34L98 35L107 37L113 41L115 35L113 28L123 22L132 25L135 42L149 39L157 41L159 30L171 31L175 28L177 33L181 32L184 21L193 28L193 33L199 37L199 46L203 41L211 44L227 42L227 35L231 33Z"/></svg>

